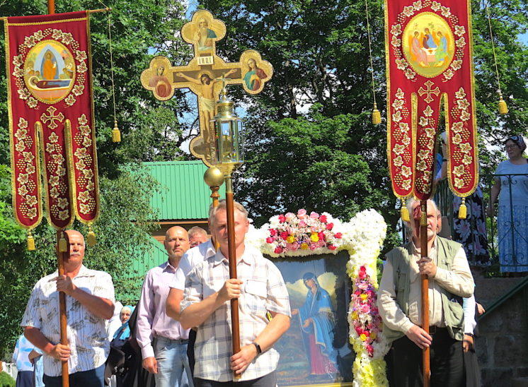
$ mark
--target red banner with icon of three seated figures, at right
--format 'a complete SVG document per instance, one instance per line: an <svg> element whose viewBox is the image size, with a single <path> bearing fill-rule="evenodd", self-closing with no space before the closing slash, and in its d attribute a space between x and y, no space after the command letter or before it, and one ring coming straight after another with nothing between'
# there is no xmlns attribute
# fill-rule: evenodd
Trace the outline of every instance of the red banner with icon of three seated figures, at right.
<svg viewBox="0 0 528 387"><path fill-rule="evenodd" d="M385 1L387 155L394 194L432 195L443 107L447 177L457 196L478 183L471 1Z"/></svg>

